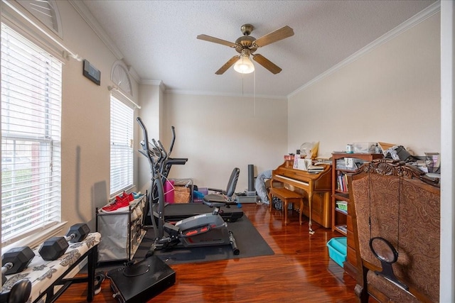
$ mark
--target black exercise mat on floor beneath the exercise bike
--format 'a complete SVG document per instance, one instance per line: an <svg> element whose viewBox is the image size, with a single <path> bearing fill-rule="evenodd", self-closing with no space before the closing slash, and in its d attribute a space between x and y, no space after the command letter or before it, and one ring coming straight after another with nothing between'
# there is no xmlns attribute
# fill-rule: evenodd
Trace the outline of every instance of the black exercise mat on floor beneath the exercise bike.
<svg viewBox="0 0 455 303"><path fill-rule="evenodd" d="M237 247L240 250L239 255L234 255L230 245L156 250L155 254L168 265L250 258L259 255L274 254L272 248L264 241L264 238L262 238L255 226L252 225L250 219L246 216L242 216L242 218L235 222L228 223L228 229L234 233ZM141 245L134 254L134 259L140 260L144 258L153 239L154 231L147 231L144 240L142 240Z"/></svg>

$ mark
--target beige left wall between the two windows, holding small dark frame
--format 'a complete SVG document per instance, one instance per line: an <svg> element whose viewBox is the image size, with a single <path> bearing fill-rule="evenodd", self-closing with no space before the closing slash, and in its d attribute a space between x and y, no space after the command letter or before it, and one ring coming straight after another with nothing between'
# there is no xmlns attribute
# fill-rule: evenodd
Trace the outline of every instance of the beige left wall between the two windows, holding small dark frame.
<svg viewBox="0 0 455 303"><path fill-rule="evenodd" d="M101 72L101 85L82 75L82 62L63 65L62 219L87 222L95 231L95 208L109 198L111 68L116 60L68 1L57 1L63 44ZM137 83L132 79L133 92ZM137 93L135 93L137 94ZM137 99L137 96L134 96Z"/></svg>

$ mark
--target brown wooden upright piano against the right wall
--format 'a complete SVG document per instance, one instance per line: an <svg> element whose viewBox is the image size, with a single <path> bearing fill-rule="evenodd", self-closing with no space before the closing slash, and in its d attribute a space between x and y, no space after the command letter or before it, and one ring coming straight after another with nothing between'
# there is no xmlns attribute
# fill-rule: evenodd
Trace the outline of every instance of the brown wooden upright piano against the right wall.
<svg viewBox="0 0 455 303"><path fill-rule="evenodd" d="M292 161L284 161L272 170L272 187L285 187L304 197L303 214L326 228L331 227L332 167L323 164L321 172L296 170ZM279 183L279 184L277 184ZM308 203L306 203L308 202ZM311 214L310 214L311 211Z"/></svg>

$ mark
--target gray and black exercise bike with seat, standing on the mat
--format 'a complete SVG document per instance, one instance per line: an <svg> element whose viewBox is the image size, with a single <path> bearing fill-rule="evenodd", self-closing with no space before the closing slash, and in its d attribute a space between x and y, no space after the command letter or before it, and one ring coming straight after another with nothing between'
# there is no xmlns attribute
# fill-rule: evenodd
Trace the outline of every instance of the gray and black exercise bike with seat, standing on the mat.
<svg viewBox="0 0 455 303"><path fill-rule="evenodd" d="M203 203L213 208L213 211L205 214L190 216L186 219L170 224L164 220L164 186L163 176L161 175L162 167L166 165L166 154L163 145L160 141L152 139L149 142L147 129L144 126L141 118L137 118L139 126L141 126L144 141L141 143L142 150L139 153L144 155L149 160L151 170L151 194L157 193L158 203L153 203L154 199L150 197L149 208L152 216L151 222L155 231L155 240L151 244L151 248L146 253L146 258L154 254L155 250L173 248L183 246L186 248L200 246L221 246L230 244L232 252L235 255L240 253L235 243L234 235L228 230L228 224L220 216L220 207L237 205L237 202L226 197L232 197L235 191L240 170L235 168L230 177L228 185L228 193L226 196L222 194L208 194L203 197Z"/></svg>

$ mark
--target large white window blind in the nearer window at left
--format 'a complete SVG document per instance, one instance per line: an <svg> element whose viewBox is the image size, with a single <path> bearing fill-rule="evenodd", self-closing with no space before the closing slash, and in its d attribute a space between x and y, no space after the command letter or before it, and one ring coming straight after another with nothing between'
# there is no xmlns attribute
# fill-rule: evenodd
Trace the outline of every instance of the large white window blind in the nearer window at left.
<svg viewBox="0 0 455 303"><path fill-rule="evenodd" d="M62 64L1 24L1 243L60 222Z"/></svg>

